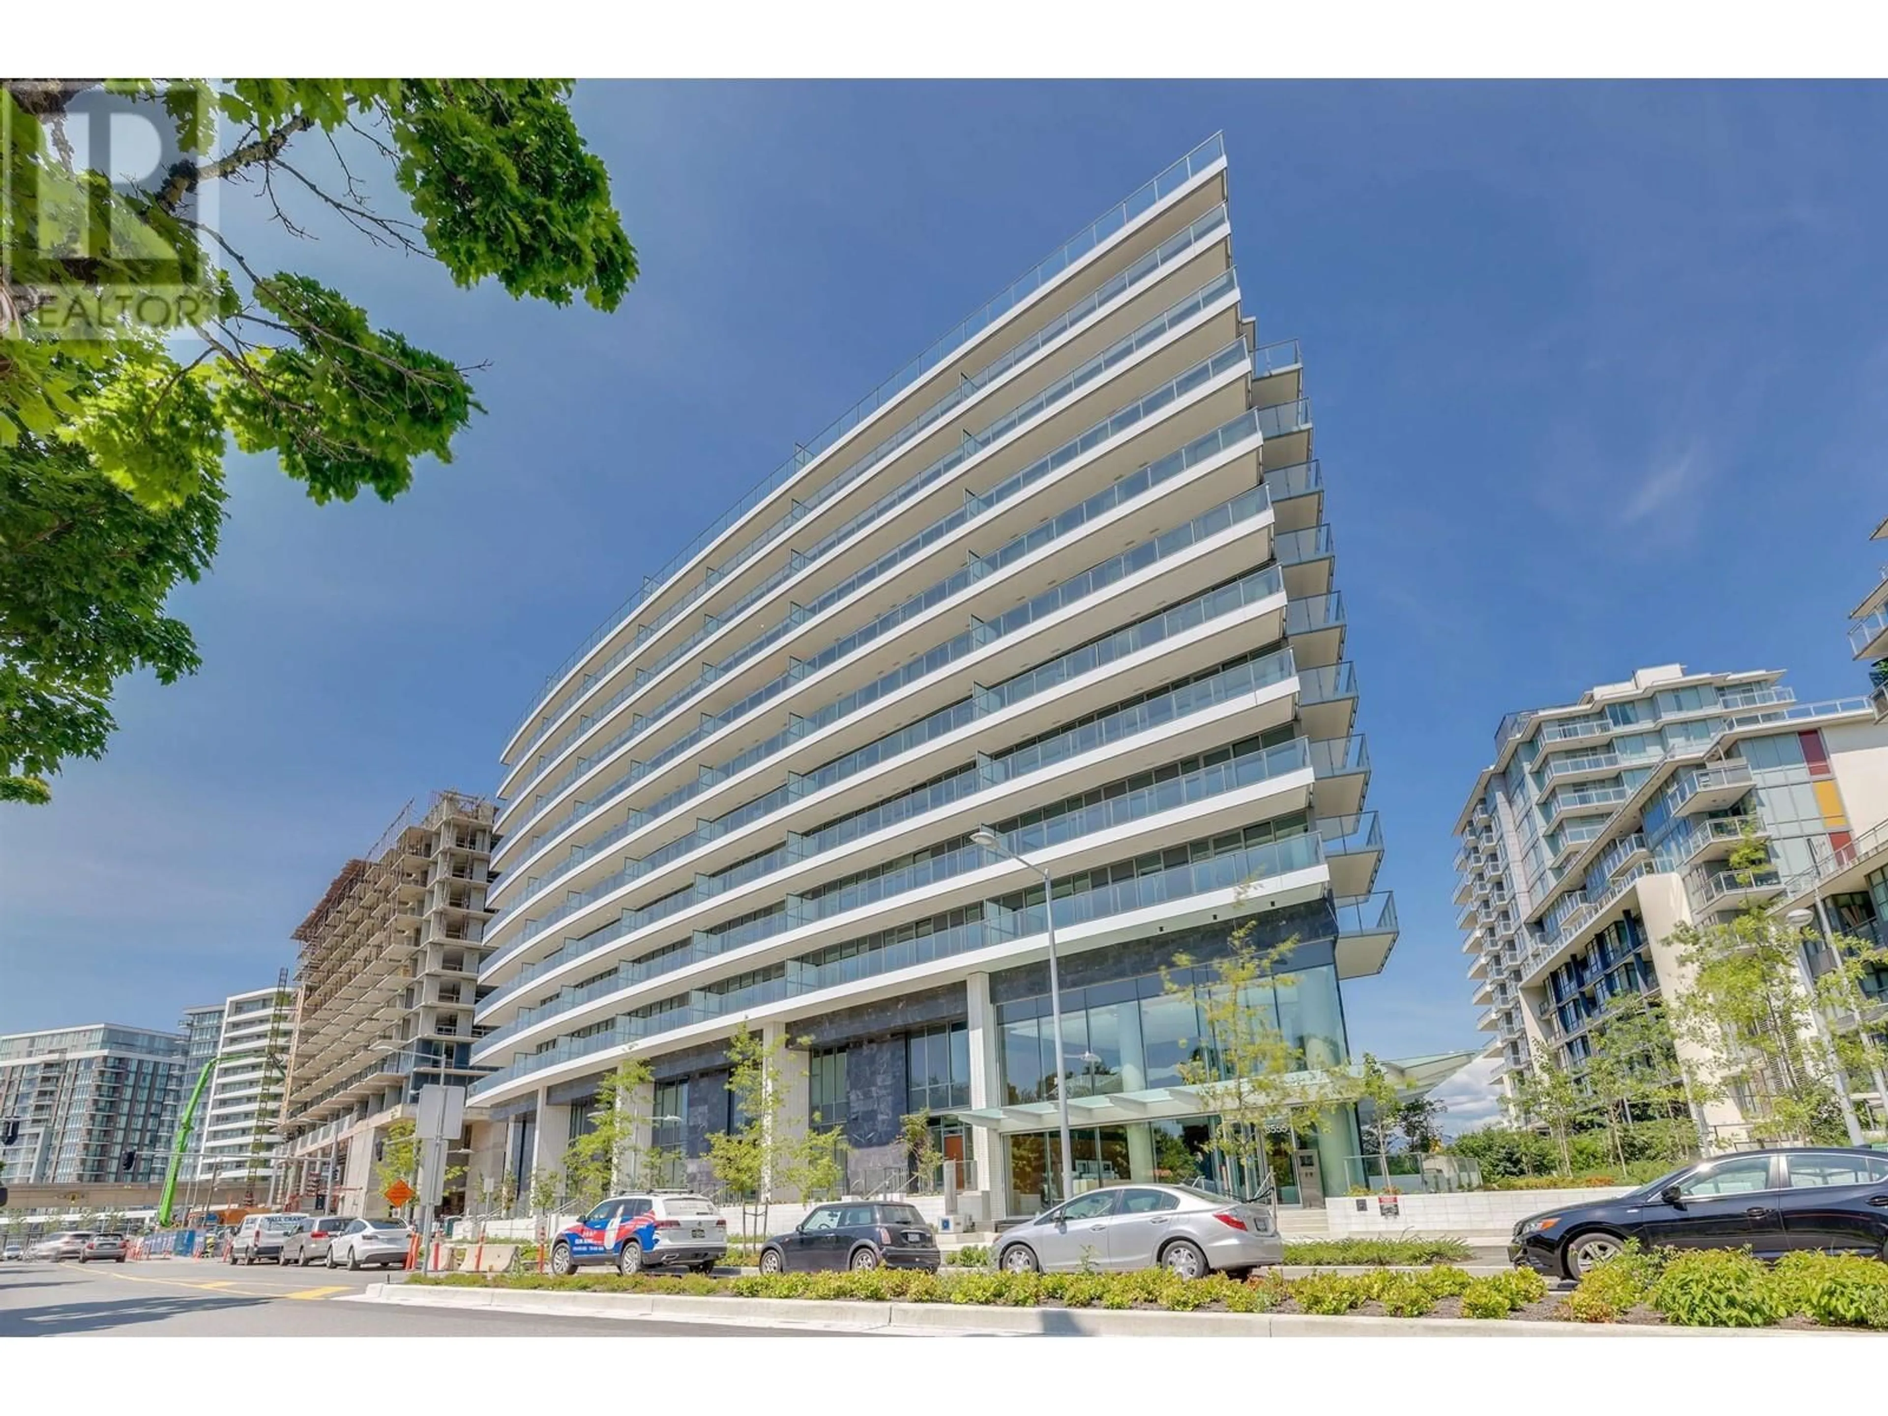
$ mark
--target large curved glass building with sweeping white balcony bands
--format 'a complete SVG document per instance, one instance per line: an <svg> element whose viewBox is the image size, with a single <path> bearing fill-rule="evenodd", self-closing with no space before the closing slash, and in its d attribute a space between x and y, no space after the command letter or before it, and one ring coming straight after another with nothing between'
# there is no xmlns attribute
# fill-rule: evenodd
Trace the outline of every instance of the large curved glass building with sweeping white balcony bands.
<svg viewBox="0 0 1888 1416"><path fill-rule="evenodd" d="M1356 1061L1340 984L1384 967L1395 910L1299 349L1256 346L1225 198L1212 140L548 680L502 751L472 1052L497 1069L481 1155L519 1189L625 1055L653 1069L653 1140L710 1184L744 1023L787 1044L793 1123L844 1125L855 1188L902 1174L901 1118L929 1110L970 1205L1035 1212L1057 1086L1078 1178L1210 1174L1180 1072L1205 1027L1163 970L1246 919L1297 940L1259 997L1276 1025L1312 1067ZM1054 876L1065 1078L1042 882L980 825ZM1342 1193L1356 1120L1271 1159L1288 1199Z"/></svg>

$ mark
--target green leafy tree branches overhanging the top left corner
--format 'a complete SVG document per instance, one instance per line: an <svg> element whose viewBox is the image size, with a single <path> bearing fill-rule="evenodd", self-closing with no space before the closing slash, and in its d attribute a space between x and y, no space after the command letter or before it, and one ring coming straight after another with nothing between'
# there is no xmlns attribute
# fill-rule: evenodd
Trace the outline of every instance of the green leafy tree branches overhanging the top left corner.
<svg viewBox="0 0 1888 1416"><path fill-rule="evenodd" d="M60 763L104 753L126 672L170 683L196 670L189 629L162 606L215 555L230 444L274 453L315 502L362 489L391 500L421 457L449 463L480 412L470 368L308 276L255 270L196 223L204 183L259 191L295 234L285 200L334 213L463 287L497 279L519 298L608 312L636 278L568 81L238 79L210 94L208 115L189 91L111 81L162 115L185 153L130 191L74 168L66 119L98 87L0 85L9 219L110 223L153 249L210 240L223 270L168 338L110 319L76 338L70 321L53 336L49 315L136 285L134 266L93 251L0 257L11 261L0 264L0 801L49 801ZM351 166L362 160L391 176L410 213L366 200ZM340 179L323 185L317 162Z"/></svg>

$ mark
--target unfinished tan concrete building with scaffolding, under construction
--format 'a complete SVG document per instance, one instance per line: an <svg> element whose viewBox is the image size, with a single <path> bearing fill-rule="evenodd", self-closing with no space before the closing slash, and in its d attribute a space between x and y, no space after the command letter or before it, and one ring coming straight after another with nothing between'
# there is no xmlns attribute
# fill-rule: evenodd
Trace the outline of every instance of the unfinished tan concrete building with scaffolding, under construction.
<svg viewBox="0 0 1888 1416"><path fill-rule="evenodd" d="M347 861L295 931L295 1050L278 1195L385 1214L374 1182L387 1131L429 1082L468 1086L493 804L461 791L408 806Z"/></svg>

